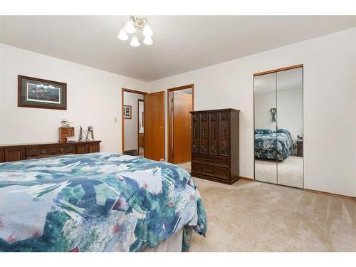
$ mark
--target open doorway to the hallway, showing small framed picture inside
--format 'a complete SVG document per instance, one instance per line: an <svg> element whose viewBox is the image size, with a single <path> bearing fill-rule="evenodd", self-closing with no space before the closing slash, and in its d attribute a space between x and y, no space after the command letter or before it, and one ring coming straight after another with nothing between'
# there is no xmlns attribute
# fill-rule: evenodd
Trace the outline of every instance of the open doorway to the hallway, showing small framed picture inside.
<svg viewBox="0 0 356 267"><path fill-rule="evenodd" d="M144 98L146 92L122 88L122 154L145 155Z"/></svg>

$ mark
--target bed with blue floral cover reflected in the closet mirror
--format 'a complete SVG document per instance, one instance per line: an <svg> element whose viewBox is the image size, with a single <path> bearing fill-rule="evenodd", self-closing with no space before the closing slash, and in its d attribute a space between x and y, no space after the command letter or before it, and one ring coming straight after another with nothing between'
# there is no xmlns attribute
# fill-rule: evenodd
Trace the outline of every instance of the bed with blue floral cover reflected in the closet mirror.
<svg viewBox="0 0 356 267"><path fill-rule="evenodd" d="M290 132L278 129L273 132L269 129L255 130L255 157L258 159L285 160L293 153L293 140Z"/></svg>

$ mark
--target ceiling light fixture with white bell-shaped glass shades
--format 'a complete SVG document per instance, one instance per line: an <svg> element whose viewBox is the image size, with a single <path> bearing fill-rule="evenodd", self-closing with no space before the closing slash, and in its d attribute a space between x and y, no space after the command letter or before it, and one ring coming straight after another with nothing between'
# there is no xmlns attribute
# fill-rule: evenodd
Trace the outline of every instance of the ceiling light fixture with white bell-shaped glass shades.
<svg viewBox="0 0 356 267"><path fill-rule="evenodd" d="M122 24L122 27L120 28L119 35L117 38L119 38L122 41L128 40L129 36L127 36L127 33L132 34L136 33L134 36L132 36L130 45L133 47L140 46L140 41L138 41L137 38L137 33L139 31L142 31L142 35L145 36L145 39L143 40L143 43L145 45L150 46L153 44L151 36L153 35L152 28L147 22L146 18L141 18L139 16L130 16L128 21Z"/></svg>

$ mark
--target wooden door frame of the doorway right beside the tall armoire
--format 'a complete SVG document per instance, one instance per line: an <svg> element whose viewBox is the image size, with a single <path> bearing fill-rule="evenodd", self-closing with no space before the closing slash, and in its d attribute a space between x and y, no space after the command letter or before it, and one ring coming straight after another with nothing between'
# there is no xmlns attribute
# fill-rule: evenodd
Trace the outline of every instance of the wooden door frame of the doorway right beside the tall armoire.
<svg viewBox="0 0 356 267"><path fill-rule="evenodd" d="M194 84L189 84L189 85L182 85L179 87L174 87L174 88L168 88L167 89L167 125L168 125L168 137L167 137L167 147L168 147L168 162L173 162L173 155L172 155L172 93L174 91L178 91L178 90L184 90L184 89L192 89L192 111L194 111Z"/></svg>

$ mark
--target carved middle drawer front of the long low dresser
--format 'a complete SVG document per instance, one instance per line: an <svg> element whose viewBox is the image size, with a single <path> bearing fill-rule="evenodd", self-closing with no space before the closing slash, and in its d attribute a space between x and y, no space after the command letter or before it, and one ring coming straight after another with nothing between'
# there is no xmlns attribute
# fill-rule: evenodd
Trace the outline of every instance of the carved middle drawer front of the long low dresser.
<svg viewBox="0 0 356 267"><path fill-rule="evenodd" d="M75 145L66 145L61 147L27 147L26 159L37 157L51 157L59 155L75 154Z"/></svg>

